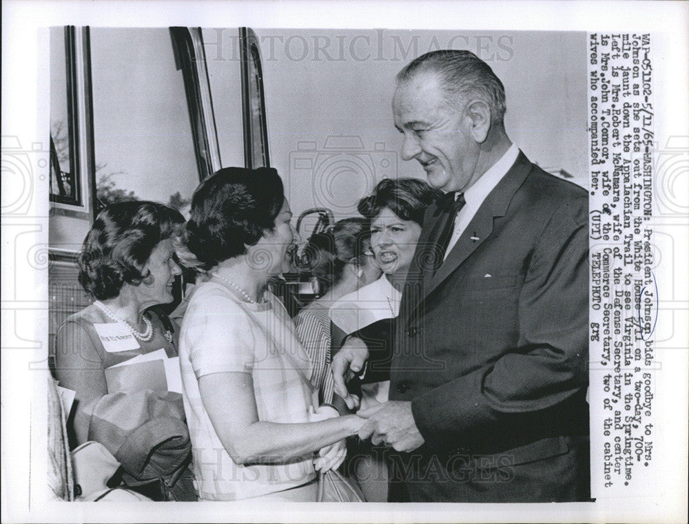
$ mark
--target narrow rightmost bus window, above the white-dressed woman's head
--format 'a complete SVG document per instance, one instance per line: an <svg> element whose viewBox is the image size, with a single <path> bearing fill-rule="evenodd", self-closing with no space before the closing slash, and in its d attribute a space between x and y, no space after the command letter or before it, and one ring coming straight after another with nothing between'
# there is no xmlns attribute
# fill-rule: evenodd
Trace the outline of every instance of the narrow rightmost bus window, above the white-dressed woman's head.
<svg viewBox="0 0 689 524"><path fill-rule="evenodd" d="M242 58L242 98L244 101L244 147L246 166L250 169L270 165L265 121L263 70L256 34L240 28Z"/></svg>

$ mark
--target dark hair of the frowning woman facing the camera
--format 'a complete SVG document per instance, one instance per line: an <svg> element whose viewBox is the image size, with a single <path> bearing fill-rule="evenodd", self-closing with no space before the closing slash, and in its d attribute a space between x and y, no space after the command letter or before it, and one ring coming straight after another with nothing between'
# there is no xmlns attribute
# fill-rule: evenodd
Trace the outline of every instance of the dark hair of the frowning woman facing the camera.
<svg viewBox="0 0 689 524"><path fill-rule="evenodd" d="M357 209L369 220L374 220L387 207L402 220L413 220L422 226L426 208L441 196L440 189L433 189L418 178L384 178L373 193L359 200Z"/></svg>

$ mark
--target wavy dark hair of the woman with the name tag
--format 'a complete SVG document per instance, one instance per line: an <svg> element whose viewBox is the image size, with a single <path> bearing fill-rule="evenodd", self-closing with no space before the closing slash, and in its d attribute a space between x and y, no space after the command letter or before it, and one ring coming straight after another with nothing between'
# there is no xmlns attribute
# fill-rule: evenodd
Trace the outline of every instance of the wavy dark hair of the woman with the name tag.
<svg viewBox="0 0 689 524"><path fill-rule="evenodd" d="M97 300L119 295L122 286L138 286L149 271L146 262L155 247L178 235L184 218L158 202L115 202L99 213L83 242L79 283Z"/></svg>

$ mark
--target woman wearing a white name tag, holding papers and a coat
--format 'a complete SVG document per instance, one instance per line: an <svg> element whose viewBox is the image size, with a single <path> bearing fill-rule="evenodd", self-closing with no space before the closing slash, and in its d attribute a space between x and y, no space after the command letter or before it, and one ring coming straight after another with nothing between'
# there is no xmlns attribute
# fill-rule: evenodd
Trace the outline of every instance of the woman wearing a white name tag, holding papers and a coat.
<svg viewBox="0 0 689 524"><path fill-rule="evenodd" d="M128 485L162 480L165 498L196 500L177 482L189 462L189 434L180 392L167 390L164 362L122 366L161 349L161 359L177 356L172 323L150 308L173 300L181 269L172 237L183 222L156 202L116 202L99 213L79 255L79 282L95 301L59 328L55 371L75 392L76 445L103 444Z"/></svg>

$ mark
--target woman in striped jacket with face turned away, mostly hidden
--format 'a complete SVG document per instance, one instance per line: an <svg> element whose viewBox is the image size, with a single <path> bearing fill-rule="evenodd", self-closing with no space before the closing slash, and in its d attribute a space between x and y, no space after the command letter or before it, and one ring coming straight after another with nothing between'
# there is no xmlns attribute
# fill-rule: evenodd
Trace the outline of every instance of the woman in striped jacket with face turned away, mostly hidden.
<svg viewBox="0 0 689 524"><path fill-rule="evenodd" d="M311 358L311 383L321 402L333 402L330 368L329 309L340 298L370 284L380 276L370 253L369 222L345 218L324 233L311 236L301 264L318 280L320 297L302 309L294 319L297 336Z"/></svg>

